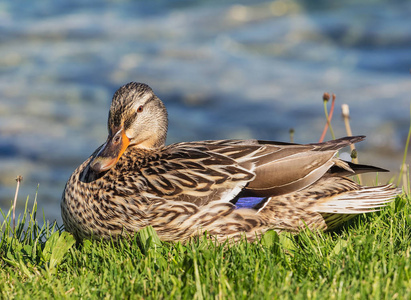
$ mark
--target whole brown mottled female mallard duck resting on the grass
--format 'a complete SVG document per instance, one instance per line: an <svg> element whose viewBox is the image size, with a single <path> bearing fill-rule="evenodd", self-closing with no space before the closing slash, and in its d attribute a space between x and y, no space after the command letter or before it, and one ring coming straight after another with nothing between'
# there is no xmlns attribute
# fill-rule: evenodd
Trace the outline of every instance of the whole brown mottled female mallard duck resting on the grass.
<svg viewBox="0 0 411 300"><path fill-rule="evenodd" d="M392 185L346 176L386 170L336 157L364 139L316 144L209 140L166 146L167 111L152 89L128 83L112 99L108 138L69 178L61 209L78 240L130 236L151 225L164 241L205 232L219 241L267 230L332 230L384 207Z"/></svg>

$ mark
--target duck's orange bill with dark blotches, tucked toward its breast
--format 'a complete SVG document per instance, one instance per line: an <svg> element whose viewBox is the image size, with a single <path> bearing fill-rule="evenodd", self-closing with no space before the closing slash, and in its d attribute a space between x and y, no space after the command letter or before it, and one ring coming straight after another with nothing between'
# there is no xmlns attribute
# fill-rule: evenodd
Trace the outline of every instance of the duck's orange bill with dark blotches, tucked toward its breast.
<svg viewBox="0 0 411 300"><path fill-rule="evenodd" d="M115 166L121 155L123 155L129 144L130 140L123 131L109 136L107 142L90 163L91 169L97 173L111 169Z"/></svg>

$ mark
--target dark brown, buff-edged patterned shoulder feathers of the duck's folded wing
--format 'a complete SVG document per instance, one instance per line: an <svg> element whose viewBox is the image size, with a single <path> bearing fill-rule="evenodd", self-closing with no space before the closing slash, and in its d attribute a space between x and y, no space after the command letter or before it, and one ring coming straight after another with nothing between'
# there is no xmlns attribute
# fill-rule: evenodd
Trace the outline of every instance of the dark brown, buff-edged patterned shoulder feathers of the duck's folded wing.
<svg viewBox="0 0 411 300"><path fill-rule="evenodd" d="M254 179L253 168L242 166L216 146L200 143L170 145L139 166L139 180L147 188L142 196L195 203L229 202ZM241 147L240 147L241 148Z"/></svg>

